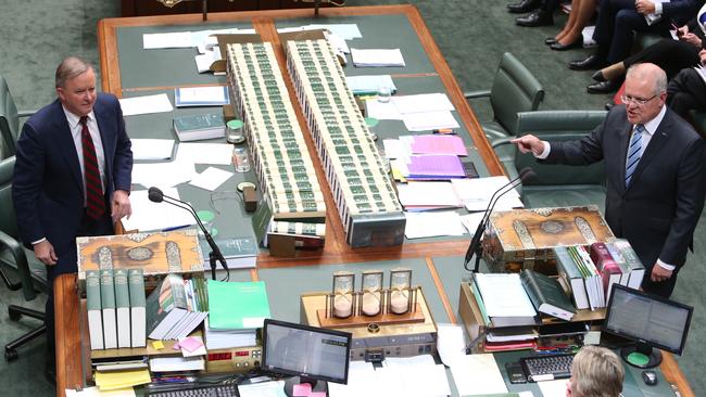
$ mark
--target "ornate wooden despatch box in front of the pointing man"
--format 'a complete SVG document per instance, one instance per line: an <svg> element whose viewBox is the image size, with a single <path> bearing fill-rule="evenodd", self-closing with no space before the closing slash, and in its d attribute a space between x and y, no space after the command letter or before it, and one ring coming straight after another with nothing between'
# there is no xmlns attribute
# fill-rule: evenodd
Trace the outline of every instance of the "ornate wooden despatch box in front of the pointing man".
<svg viewBox="0 0 706 397"><path fill-rule="evenodd" d="M595 205L497 212L486 228L483 259L491 272L525 268L553 273L556 265L552 248L614 240Z"/></svg>

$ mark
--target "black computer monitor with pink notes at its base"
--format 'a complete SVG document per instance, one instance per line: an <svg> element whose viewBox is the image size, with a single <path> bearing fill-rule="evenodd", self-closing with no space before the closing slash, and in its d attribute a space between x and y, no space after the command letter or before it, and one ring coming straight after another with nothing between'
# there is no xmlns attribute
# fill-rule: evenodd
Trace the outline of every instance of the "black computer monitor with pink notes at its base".
<svg viewBox="0 0 706 397"><path fill-rule="evenodd" d="M351 333L265 320L263 363L266 371L291 375L285 393L308 383L313 392L327 392L327 382L348 383Z"/></svg>

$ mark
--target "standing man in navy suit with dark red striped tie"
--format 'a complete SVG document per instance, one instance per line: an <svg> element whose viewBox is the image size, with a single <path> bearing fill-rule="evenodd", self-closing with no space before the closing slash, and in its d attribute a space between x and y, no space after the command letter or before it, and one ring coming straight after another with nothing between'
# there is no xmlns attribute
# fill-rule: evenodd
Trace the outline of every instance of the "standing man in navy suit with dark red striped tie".
<svg viewBox="0 0 706 397"><path fill-rule="evenodd" d="M24 125L12 196L20 235L47 265L47 338L53 361L53 280L76 272L76 236L113 234L131 213L130 140L117 99L96 91L93 67L78 57L56 68L59 97Z"/></svg>

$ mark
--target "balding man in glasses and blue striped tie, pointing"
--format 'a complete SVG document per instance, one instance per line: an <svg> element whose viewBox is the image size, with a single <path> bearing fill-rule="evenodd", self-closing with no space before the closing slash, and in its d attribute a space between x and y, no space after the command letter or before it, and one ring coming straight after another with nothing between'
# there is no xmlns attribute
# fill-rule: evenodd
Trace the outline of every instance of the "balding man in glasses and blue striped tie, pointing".
<svg viewBox="0 0 706 397"><path fill-rule="evenodd" d="M693 128L665 106L667 76L654 64L628 69L625 106L581 140L515 139L522 153L546 163L605 161L605 218L628 239L647 269L642 287L669 296L704 208L705 146Z"/></svg>

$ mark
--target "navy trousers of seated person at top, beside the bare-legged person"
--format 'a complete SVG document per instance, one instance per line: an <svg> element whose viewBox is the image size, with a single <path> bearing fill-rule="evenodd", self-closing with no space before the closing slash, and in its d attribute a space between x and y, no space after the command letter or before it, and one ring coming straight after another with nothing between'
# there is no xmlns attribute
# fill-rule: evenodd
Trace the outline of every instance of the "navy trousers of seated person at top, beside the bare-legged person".
<svg viewBox="0 0 706 397"><path fill-rule="evenodd" d="M634 0L603 0L598 8L593 39L598 44L598 54L608 64L630 55L633 31L669 33L669 22L664 18L647 25L645 17L635 11Z"/></svg>

